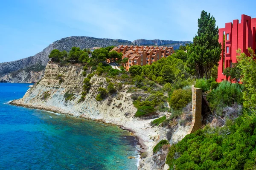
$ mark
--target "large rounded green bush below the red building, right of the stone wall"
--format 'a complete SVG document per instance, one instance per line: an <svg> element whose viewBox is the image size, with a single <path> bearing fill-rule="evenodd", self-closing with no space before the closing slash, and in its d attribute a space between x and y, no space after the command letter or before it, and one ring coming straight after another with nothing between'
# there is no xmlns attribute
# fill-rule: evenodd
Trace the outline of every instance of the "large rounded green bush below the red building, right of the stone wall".
<svg viewBox="0 0 256 170"><path fill-rule="evenodd" d="M210 103L210 108L219 113L224 107L232 106L235 103L242 104L242 91L242 85L227 81L221 82L218 88L211 91L207 96L207 100Z"/></svg>

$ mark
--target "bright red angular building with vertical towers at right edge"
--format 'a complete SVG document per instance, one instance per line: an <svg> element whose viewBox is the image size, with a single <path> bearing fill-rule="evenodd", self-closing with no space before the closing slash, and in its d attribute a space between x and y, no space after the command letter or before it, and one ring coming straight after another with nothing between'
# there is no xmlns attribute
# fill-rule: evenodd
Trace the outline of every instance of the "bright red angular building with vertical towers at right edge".
<svg viewBox="0 0 256 170"><path fill-rule="evenodd" d="M237 62L236 50L240 48L241 52L248 55L248 47L253 50L256 49L256 18L243 14L241 23L239 23L239 20L226 23L225 28L219 28L219 42L221 42L223 50L218 66L217 82L222 82L227 79L223 70L232 67L232 63Z"/></svg>

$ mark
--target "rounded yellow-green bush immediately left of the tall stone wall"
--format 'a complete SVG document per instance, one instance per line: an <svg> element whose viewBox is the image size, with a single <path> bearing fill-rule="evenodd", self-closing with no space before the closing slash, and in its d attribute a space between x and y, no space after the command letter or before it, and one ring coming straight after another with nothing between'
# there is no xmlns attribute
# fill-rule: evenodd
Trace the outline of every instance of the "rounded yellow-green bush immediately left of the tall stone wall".
<svg viewBox="0 0 256 170"><path fill-rule="evenodd" d="M171 108L178 110L185 107L192 100L191 89L177 89L173 91L169 99L169 105Z"/></svg>

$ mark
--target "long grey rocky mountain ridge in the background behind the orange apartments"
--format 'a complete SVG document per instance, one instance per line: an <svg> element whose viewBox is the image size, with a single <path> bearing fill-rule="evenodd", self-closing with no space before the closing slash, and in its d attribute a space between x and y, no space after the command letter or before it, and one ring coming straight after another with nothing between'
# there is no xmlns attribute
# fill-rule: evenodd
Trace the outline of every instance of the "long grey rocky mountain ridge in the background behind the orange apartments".
<svg viewBox="0 0 256 170"><path fill-rule="evenodd" d="M94 37L66 37L50 44L43 51L34 56L12 62L0 63L0 82L37 82L44 75L44 68L49 61L49 54L53 49L70 51L73 46L84 48L107 47L110 45L165 45L174 49L185 45L189 41L170 40L134 40L133 42L121 39L94 38ZM30 69L36 68L36 69ZM33 77L33 78L31 78Z"/></svg>

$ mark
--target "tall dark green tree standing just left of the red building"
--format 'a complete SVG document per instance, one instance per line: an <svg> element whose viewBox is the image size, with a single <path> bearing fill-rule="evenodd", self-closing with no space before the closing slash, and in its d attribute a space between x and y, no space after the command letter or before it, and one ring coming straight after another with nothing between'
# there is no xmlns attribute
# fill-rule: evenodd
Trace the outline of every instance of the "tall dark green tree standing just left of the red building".
<svg viewBox="0 0 256 170"><path fill-rule="evenodd" d="M198 19L198 35L188 48L189 67L195 68L199 79L204 76L209 79L212 68L221 59L221 44L218 42L218 26L215 27L215 22L210 13L202 11Z"/></svg>

